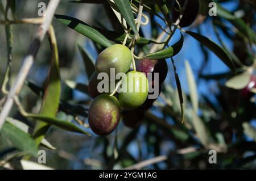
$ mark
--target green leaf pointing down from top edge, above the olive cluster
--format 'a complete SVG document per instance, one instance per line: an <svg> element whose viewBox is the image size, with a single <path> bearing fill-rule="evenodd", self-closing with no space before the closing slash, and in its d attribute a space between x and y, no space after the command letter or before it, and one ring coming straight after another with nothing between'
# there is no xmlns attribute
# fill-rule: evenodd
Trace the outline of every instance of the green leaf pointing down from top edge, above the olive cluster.
<svg viewBox="0 0 256 181"><path fill-rule="evenodd" d="M131 10L131 5L129 0L114 0L115 5L117 5L117 8L123 18L125 18L126 23L129 24L131 30L135 33L135 35L138 35L138 30L135 24L133 11Z"/></svg>

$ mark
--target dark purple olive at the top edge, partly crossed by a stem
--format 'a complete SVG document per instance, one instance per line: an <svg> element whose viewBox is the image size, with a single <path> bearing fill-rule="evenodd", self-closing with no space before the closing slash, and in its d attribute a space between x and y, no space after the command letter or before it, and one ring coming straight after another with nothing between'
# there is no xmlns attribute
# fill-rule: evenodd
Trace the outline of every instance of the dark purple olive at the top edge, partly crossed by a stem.
<svg viewBox="0 0 256 181"><path fill-rule="evenodd" d="M178 0L180 3L181 8L184 6L186 0ZM172 21L176 22L176 20L180 16L179 6L177 2L175 2L174 8L172 9ZM183 16L180 20L180 27L187 27L191 25L199 12L199 0L189 0L186 6L185 11L183 12Z"/></svg>

